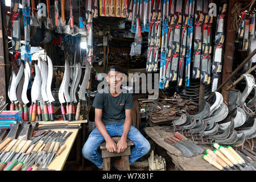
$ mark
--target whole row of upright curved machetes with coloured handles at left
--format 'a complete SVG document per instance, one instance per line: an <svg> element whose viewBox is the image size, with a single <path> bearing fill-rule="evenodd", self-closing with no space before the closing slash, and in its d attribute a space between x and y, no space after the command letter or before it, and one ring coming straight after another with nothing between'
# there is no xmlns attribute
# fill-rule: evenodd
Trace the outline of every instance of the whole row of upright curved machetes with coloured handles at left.
<svg viewBox="0 0 256 182"><path fill-rule="evenodd" d="M80 59L78 58L77 52L75 52L74 56L65 56L65 71L59 89L60 109L64 121L80 120L81 102L86 100L85 92L89 88L90 57L81 56ZM84 62L86 64L84 78L81 78L82 59L85 59ZM72 68L70 68L69 64L72 64ZM54 121L59 119L53 114L52 102L55 101L55 98L53 98L51 90L53 80L51 58L47 55L39 56L38 61L34 65L34 71L35 77L34 81L32 81L31 67L27 60L24 61L24 64L20 63L17 74L12 70L8 89L8 96L11 101L10 110L19 110L23 121ZM81 79L83 80L80 89L77 89ZM27 105L30 100L27 97L27 89L31 81L31 105L28 108ZM79 100L76 97L77 92ZM66 105L66 109L64 105ZM75 105L77 108L75 108Z"/></svg>

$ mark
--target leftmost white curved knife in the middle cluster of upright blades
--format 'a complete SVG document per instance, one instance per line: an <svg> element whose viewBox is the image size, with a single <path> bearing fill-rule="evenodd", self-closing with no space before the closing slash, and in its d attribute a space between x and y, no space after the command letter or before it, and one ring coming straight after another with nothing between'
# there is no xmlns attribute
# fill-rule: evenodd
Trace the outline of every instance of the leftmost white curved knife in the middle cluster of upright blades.
<svg viewBox="0 0 256 182"><path fill-rule="evenodd" d="M37 64L35 64L35 74L36 75L31 88L31 101L32 101L31 105L33 105L32 113L31 113L31 121L35 121L36 119L36 110L37 110L36 101L40 99L39 96L41 93L41 73Z"/></svg>

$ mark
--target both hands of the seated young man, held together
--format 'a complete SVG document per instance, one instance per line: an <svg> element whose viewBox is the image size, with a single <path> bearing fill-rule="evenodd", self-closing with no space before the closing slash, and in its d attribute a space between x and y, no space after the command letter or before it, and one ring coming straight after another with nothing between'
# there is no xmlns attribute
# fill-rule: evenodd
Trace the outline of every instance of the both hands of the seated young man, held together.
<svg viewBox="0 0 256 182"><path fill-rule="evenodd" d="M109 152L117 152L122 153L127 148L127 142L125 138L121 138L118 143L116 144L112 138L106 141L106 150Z"/></svg>

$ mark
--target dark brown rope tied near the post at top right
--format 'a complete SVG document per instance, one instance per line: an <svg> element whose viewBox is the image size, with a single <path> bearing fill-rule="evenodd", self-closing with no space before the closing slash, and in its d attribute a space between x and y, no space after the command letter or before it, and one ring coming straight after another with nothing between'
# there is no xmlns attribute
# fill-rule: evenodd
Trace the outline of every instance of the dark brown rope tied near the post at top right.
<svg viewBox="0 0 256 182"><path fill-rule="evenodd" d="M253 7L256 0L251 1L247 6L242 7L243 3L236 3L231 10L231 14L233 16L233 22L232 22L232 31L238 32L239 30L239 24L240 24L240 15L242 11L247 10L247 12L250 13L251 7Z"/></svg>

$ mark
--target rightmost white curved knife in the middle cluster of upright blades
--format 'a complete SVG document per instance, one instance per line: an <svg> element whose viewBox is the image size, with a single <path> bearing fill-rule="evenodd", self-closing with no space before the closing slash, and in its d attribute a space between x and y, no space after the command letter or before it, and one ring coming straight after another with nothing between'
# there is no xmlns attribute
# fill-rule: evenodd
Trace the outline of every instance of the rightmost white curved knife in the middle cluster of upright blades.
<svg viewBox="0 0 256 182"><path fill-rule="evenodd" d="M48 62L48 76L47 76L47 84L46 84L46 94L48 97L48 113L50 121L54 121L53 115L53 106L52 102L55 101L52 96L51 85L52 85L52 76L53 76L53 65L52 60L49 56L46 55L46 59Z"/></svg>

